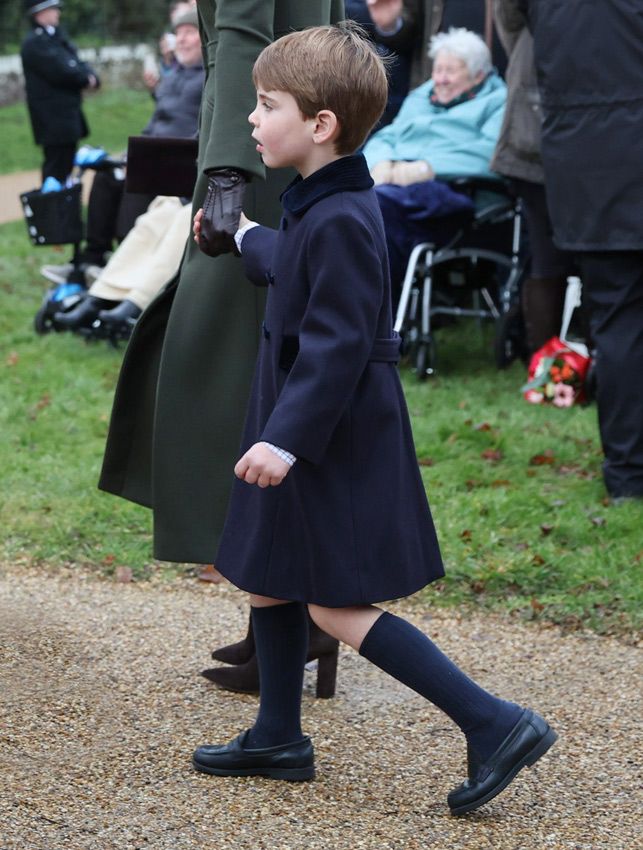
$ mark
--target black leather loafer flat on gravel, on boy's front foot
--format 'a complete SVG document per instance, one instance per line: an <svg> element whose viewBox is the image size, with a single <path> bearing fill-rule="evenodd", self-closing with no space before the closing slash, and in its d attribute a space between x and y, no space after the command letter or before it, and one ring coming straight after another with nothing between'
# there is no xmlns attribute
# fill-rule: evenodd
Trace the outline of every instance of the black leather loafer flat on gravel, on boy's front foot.
<svg viewBox="0 0 643 850"><path fill-rule="evenodd" d="M248 731L228 744L204 744L197 747L192 764L202 773L215 776L268 776L303 782L315 777L315 753L310 738L302 738L279 747L249 749Z"/></svg>

